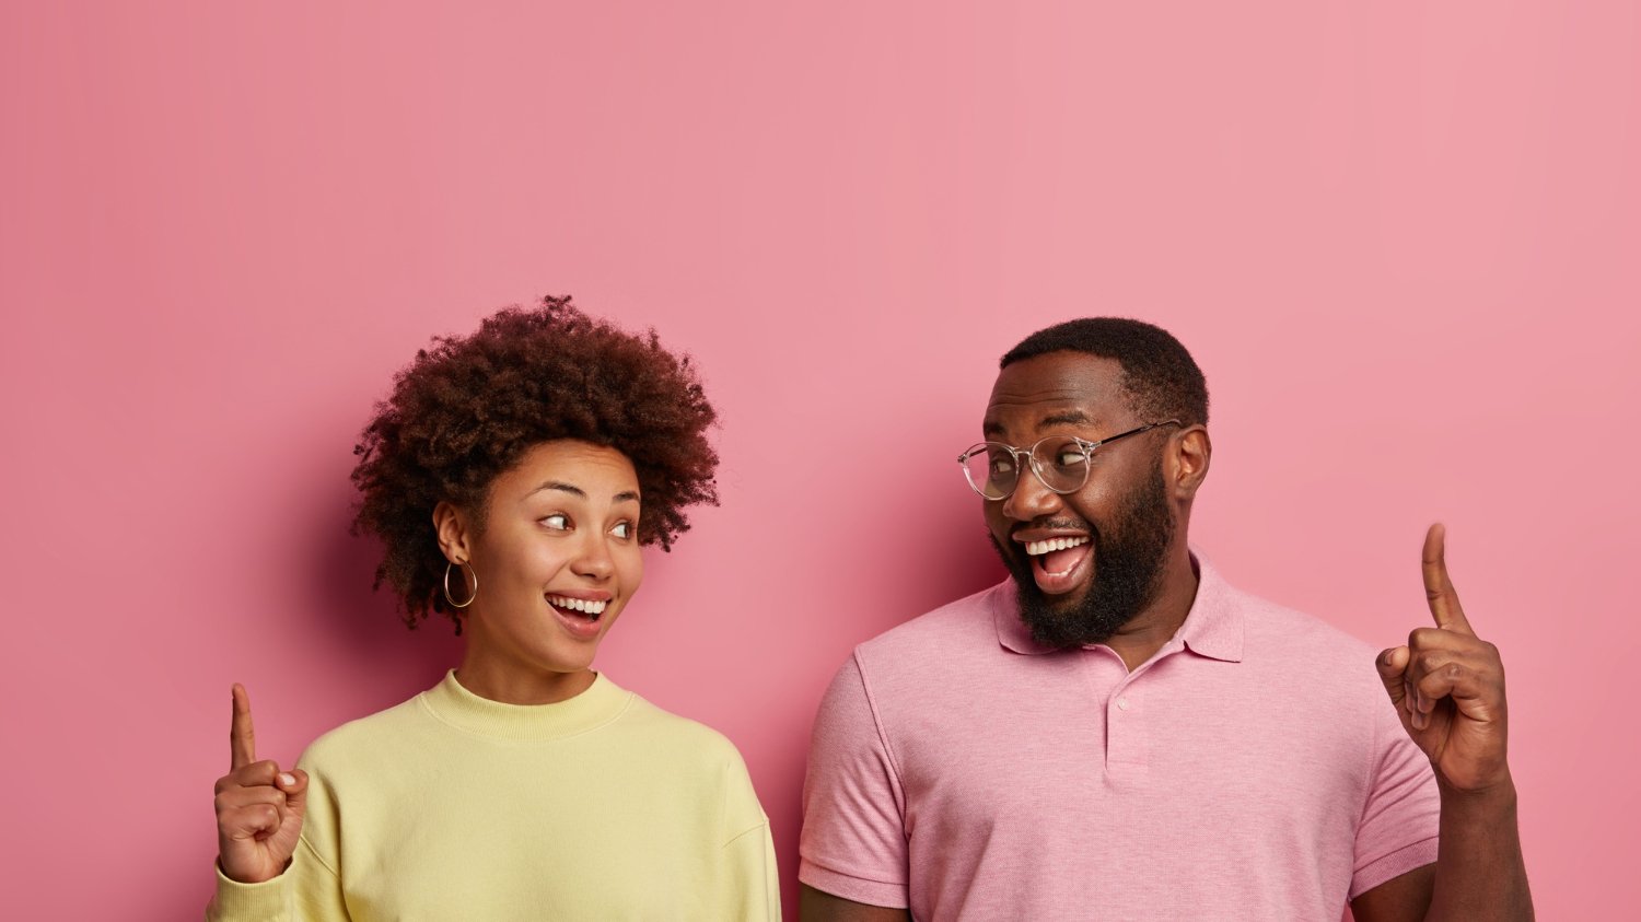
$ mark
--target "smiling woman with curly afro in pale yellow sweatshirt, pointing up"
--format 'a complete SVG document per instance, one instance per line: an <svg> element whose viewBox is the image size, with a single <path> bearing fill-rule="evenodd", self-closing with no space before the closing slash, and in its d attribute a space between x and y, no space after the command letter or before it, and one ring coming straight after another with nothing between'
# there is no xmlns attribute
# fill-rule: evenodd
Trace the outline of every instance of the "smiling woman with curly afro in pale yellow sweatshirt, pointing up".
<svg viewBox="0 0 1641 922"><path fill-rule="evenodd" d="M688 359L569 299L417 353L354 450L354 528L461 664L292 771L235 686L208 919L776 919L735 746L591 669L640 545L717 500L712 420Z"/></svg>

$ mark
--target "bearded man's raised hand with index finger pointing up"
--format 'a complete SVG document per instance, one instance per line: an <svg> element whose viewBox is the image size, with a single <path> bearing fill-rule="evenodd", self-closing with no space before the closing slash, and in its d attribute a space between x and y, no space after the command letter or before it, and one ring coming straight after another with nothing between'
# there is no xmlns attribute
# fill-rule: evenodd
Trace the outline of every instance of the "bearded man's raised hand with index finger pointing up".
<svg viewBox="0 0 1641 922"><path fill-rule="evenodd" d="M1424 597L1436 627L1415 628L1406 646L1378 655L1378 678L1401 727L1454 791L1480 792L1510 779L1505 763L1505 666L1475 637L1447 576L1446 530L1424 535Z"/></svg>

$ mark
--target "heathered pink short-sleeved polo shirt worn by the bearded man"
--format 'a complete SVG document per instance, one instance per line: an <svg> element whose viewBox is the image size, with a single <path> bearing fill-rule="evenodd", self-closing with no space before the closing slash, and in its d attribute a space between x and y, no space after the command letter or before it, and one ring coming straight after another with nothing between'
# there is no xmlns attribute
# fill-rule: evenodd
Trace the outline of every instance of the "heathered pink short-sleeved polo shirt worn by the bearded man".
<svg viewBox="0 0 1641 922"><path fill-rule="evenodd" d="M1436 860L1375 650L1200 561L1132 673L1004 582L855 648L816 717L798 876L917 919L1323 919Z"/></svg>

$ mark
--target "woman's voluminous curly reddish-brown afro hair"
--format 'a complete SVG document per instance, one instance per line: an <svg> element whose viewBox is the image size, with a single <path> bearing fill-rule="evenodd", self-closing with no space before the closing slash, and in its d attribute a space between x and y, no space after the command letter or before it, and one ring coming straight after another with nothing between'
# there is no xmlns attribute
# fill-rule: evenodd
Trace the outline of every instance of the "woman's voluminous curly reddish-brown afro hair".
<svg viewBox="0 0 1641 922"><path fill-rule="evenodd" d="M445 556L433 507L448 500L482 522L491 482L527 450L576 438L614 448L638 472L638 540L671 550L689 530L684 510L717 505L717 415L688 356L655 331L625 333L581 313L568 297L502 308L471 336L435 336L394 377L353 453L361 499L353 533L386 545L374 587L392 586L404 620L440 612Z"/></svg>

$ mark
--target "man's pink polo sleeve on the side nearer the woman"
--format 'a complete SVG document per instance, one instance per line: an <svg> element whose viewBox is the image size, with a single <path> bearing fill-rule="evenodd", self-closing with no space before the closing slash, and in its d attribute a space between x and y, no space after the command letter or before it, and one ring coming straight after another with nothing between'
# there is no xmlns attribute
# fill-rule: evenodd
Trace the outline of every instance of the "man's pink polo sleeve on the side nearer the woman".
<svg viewBox="0 0 1641 922"><path fill-rule="evenodd" d="M907 906L906 794L858 653L820 699L798 879L832 896Z"/></svg>

